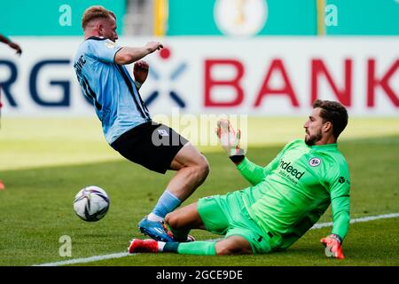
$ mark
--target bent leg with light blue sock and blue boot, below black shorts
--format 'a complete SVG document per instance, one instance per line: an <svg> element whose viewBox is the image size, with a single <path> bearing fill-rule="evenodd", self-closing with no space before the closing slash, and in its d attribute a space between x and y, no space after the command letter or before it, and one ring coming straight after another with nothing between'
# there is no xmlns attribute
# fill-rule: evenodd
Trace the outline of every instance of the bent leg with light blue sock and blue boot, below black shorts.
<svg viewBox="0 0 399 284"><path fill-rule="evenodd" d="M168 183L167 189L160 196L153 211L138 223L140 232L157 241L176 241L163 224L163 220L204 182L209 172L209 165L205 156L192 144L187 143L176 154L170 169L177 171L175 177ZM185 240L179 239L179 241L192 241L192 239L186 237Z"/></svg>

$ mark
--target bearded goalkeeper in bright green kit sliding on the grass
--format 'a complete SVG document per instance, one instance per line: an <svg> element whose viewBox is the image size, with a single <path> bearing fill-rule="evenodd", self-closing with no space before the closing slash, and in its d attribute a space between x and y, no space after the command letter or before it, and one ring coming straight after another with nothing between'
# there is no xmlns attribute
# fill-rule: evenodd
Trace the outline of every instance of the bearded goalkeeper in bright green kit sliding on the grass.
<svg viewBox="0 0 399 284"><path fill-rule="evenodd" d="M230 122L219 121L217 135L223 148L252 186L201 198L176 209L165 217L164 228L165 233L179 240L184 240L191 229L225 237L192 242L133 239L129 252L207 256L271 253L300 239L331 204L332 231L320 241L326 256L343 259L341 245L348 233L350 182L348 163L337 148L337 138L347 124L344 106L317 99L304 124L304 140L288 143L263 168L250 162L239 148L240 132L235 132Z"/></svg>

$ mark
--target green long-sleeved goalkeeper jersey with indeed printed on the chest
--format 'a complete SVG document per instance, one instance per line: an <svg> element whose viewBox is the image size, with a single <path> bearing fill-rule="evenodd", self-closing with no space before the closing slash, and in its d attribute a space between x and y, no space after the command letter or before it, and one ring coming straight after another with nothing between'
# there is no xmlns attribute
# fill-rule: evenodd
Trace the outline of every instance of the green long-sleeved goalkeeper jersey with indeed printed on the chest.
<svg viewBox="0 0 399 284"><path fill-rule="evenodd" d="M350 181L337 144L307 146L296 139L266 167L245 158L238 169L254 185L242 195L250 217L262 230L280 237L279 248L297 241L330 204L332 233L346 237Z"/></svg>

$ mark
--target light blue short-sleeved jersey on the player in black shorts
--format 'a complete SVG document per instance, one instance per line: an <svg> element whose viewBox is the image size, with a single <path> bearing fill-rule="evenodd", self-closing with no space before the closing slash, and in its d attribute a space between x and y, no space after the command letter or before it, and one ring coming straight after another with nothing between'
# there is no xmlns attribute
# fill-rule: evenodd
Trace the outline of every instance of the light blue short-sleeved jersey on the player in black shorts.
<svg viewBox="0 0 399 284"><path fill-rule="evenodd" d="M74 58L82 91L92 100L109 144L127 130L151 121L128 70L113 61L120 49L109 39L91 36L80 44Z"/></svg>

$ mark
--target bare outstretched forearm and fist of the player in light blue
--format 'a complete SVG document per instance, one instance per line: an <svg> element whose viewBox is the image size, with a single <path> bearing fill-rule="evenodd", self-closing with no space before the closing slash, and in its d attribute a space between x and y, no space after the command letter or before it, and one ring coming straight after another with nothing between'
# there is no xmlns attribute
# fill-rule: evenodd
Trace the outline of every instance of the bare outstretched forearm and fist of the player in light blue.
<svg viewBox="0 0 399 284"><path fill-rule="evenodd" d="M150 42L142 47L122 47L116 52L114 62L121 65L130 64L153 53L153 51L160 50L162 47L163 45L158 42Z"/></svg>

